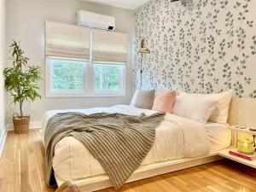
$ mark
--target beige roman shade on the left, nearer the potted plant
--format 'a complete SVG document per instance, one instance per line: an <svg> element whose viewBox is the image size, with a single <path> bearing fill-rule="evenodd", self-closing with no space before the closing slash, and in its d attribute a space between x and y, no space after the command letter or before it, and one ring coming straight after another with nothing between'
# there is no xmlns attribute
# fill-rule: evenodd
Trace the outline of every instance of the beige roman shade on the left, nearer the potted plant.
<svg viewBox="0 0 256 192"><path fill-rule="evenodd" d="M90 29L45 21L45 55L90 59Z"/></svg>

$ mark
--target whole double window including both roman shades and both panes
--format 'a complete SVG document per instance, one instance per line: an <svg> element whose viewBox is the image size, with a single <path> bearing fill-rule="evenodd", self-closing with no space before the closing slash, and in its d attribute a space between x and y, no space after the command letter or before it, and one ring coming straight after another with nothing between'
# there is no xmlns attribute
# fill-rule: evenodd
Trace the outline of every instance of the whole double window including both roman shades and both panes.
<svg viewBox="0 0 256 192"><path fill-rule="evenodd" d="M128 36L45 21L46 96L125 96Z"/></svg>

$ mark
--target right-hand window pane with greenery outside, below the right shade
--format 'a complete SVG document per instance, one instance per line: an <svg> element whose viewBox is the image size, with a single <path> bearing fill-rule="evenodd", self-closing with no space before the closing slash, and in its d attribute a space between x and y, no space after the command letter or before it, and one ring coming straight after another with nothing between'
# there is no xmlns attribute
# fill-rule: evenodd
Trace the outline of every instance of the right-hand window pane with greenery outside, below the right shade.
<svg viewBox="0 0 256 192"><path fill-rule="evenodd" d="M122 65L95 64L96 92L124 92L124 69Z"/></svg>

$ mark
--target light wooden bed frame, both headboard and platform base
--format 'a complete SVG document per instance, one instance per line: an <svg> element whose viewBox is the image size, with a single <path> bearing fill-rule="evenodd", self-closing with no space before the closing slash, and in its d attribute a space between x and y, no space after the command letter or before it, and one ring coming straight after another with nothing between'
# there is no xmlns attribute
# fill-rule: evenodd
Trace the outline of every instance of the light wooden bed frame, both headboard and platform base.
<svg viewBox="0 0 256 192"><path fill-rule="evenodd" d="M249 115L256 111L255 99L233 98L230 103L230 113L228 123L230 125L248 125L252 120ZM241 113L242 112L242 113ZM254 119L254 117L253 117ZM256 125L256 119L255 119ZM218 151L204 157L183 158L180 160L168 160L160 163L146 165L140 167L134 172L126 183L131 183L148 177L154 177L168 172L176 172L193 166L200 166L213 161L222 160L223 157L218 156ZM109 178L106 175L87 177L79 180L74 180L82 192L92 192L100 189L112 187Z"/></svg>

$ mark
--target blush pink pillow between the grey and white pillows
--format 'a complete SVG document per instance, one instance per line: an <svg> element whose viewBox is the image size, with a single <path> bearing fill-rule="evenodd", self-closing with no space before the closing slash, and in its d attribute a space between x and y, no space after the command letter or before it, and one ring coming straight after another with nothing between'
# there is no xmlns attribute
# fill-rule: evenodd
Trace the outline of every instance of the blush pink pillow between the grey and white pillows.
<svg viewBox="0 0 256 192"><path fill-rule="evenodd" d="M177 92L175 90L162 91L155 96L153 110L172 113L173 104L175 102Z"/></svg>

